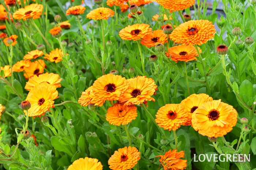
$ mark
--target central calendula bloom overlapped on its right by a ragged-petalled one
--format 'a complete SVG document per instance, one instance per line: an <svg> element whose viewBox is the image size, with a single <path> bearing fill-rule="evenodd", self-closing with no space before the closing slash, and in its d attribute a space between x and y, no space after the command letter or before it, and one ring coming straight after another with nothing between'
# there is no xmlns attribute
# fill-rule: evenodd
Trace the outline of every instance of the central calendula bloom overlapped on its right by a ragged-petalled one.
<svg viewBox="0 0 256 170"><path fill-rule="evenodd" d="M129 84L124 77L112 73L103 75L94 81L91 103L102 106L106 100L120 100Z"/></svg>

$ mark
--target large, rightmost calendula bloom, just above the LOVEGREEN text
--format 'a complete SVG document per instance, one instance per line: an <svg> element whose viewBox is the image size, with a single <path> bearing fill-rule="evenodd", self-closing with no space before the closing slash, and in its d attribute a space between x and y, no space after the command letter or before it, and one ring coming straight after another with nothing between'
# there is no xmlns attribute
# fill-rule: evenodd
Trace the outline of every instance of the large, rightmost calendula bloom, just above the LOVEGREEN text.
<svg viewBox="0 0 256 170"><path fill-rule="evenodd" d="M193 112L191 122L199 134L217 138L226 135L236 125L237 111L221 100L208 101Z"/></svg>

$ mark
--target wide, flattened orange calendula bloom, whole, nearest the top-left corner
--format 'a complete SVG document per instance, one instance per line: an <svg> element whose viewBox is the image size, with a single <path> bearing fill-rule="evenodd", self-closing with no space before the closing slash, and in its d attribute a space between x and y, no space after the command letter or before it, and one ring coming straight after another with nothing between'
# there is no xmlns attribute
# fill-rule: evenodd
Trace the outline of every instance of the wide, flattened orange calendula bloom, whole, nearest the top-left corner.
<svg viewBox="0 0 256 170"><path fill-rule="evenodd" d="M13 13L14 19L27 20L29 18L38 19L42 15L44 6L42 4L30 4L25 6L25 8L19 8Z"/></svg>

